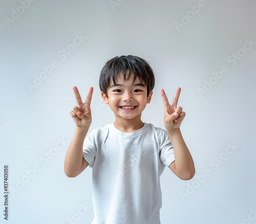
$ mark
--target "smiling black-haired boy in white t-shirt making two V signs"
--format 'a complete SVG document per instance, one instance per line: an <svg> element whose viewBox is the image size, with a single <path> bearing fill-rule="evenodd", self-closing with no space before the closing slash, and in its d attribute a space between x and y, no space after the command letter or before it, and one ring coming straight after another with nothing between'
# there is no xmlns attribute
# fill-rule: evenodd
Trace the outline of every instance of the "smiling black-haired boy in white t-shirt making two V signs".
<svg viewBox="0 0 256 224"><path fill-rule="evenodd" d="M182 180L195 175L195 166L182 138L180 125L185 117L177 107L181 89L170 105L163 89L166 131L141 120L155 85L151 66L136 56L115 57L104 65L99 85L105 104L115 122L87 132L92 122L90 103L73 90L78 107L70 111L76 124L64 170L76 177L87 166L93 175L93 224L159 224L162 195L160 175L168 166Z"/></svg>

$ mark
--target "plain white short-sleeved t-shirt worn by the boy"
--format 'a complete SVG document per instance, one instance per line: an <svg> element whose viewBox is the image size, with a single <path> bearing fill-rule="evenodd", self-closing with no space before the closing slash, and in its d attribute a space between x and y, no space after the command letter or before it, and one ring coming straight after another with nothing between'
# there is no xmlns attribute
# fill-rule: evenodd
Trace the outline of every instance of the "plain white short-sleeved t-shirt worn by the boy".
<svg viewBox="0 0 256 224"><path fill-rule="evenodd" d="M167 132L152 123L122 132L114 122L84 139L92 167L93 224L160 224L160 175L174 158Z"/></svg>

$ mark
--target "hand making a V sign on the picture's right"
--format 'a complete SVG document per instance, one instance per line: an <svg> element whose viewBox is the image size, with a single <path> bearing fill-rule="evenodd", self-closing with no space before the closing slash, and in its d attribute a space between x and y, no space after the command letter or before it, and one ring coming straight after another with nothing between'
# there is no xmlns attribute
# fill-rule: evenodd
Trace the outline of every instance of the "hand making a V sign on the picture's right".
<svg viewBox="0 0 256 224"><path fill-rule="evenodd" d="M186 115L185 112L182 112L182 107L177 107L180 91L181 88L178 87L174 95L173 104L170 105L164 90L160 89L164 106L164 125L168 131L179 129L181 122Z"/></svg>

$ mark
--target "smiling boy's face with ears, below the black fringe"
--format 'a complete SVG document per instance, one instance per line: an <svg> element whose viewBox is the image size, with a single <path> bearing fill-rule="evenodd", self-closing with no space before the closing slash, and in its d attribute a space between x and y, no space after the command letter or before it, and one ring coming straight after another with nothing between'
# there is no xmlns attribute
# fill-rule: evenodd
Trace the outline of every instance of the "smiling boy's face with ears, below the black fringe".
<svg viewBox="0 0 256 224"><path fill-rule="evenodd" d="M101 92L104 103L109 104L115 116L123 119L133 119L137 116L140 118L146 104L150 103L152 94L153 91L147 97L146 85L144 83L141 84L138 78L133 83L132 76L126 81L124 81L123 76L118 77L116 85L111 80L108 88L108 98ZM124 106L131 107L131 109L122 108Z"/></svg>

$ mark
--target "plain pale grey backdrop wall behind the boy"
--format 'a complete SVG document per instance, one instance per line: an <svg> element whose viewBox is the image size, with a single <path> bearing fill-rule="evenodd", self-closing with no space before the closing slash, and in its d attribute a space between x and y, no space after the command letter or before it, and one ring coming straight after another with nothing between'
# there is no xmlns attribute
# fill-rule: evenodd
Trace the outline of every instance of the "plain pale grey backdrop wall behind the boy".
<svg viewBox="0 0 256 224"><path fill-rule="evenodd" d="M89 132L113 122L113 112L102 102L98 78L104 63L121 55L143 57L155 71L156 85L152 102L142 113L144 122L164 129L160 89L172 102L181 87L178 106L186 112L181 132L196 176L183 181L165 168L161 223L256 223L252 220L256 215L252 213L256 209L256 45L241 50L245 39L256 42L255 1L206 0L198 14L191 6L202 0L114 0L114 7L107 0L37 0L27 9L21 2L2 0L0 7L0 189L8 164L12 187L8 223L91 223L92 169L76 178L63 171L75 131L69 114L76 106L72 87L77 86L83 101L89 87L94 87ZM15 17L13 10L23 13L8 23L6 17ZM177 29L175 22L182 22L182 14L191 19ZM87 38L61 61L59 51L72 47L76 34ZM238 51L243 57L233 65L227 58ZM52 61L58 67L29 91L27 83L33 84L34 75ZM198 88L214 81L212 72L222 66L228 72L200 97ZM67 142L56 151L58 138ZM225 154L232 143L239 147ZM54 155L47 161L49 152ZM219 156L224 161L216 168L211 162ZM38 172L31 171L34 166ZM197 182L196 177L207 170L210 176ZM188 186L197 188L191 193ZM181 192L190 194L182 200ZM1 211L3 203L2 196ZM81 212L81 204L91 208ZM4 221L3 215L0 220Z"/></svg>

